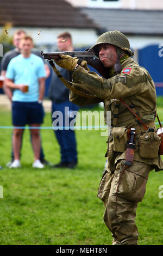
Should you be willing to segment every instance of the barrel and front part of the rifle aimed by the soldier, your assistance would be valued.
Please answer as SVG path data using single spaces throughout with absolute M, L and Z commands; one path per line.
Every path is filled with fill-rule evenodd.
M 78 51 L 70 51 L 70 52 L 43 52 L 41 51 L 41 56 L 43 56 L 44 59 L 60 59 L 59 54 L 64 55 L 70 55 L 72 57 L 76 58 L 94 58 L 95 52 L 88 51 L 88 52 L 78 52 Z

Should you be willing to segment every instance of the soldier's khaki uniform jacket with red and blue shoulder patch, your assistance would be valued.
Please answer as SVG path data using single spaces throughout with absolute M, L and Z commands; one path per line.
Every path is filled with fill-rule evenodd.
M 95 72 L 89 72 L 78 66 L 73 72 L 73 81 L 78 83 L 78 90 L 89 91 L 95 98 L 86 98 L 70 92 L 70 101 L 79 106 L 97 102 L 104 102 L 105 117 L 106 111 L 111 111 L 111 126 L 113 126 L 114 109 L 117 99 L 123 99 L 129 106 L 134 106 L 134 111 L 147 126 L 155 127 L 156 114 L 156 92 L 154 82 L 148 71 L 139 66 L 133 58 L 124 60 L 120 74 L 113 73 L 112 77 L 106 80 Z M 134 115 L 120 102 L 117 115 L 117 127 L 140 127 Z M 140 130 L 140 129 L 139 129 Z M 136 135 L 136 149 L 134 160 L 146 164 L 152 164 L 156 171 L 163 169 L 163 162 L 158 155 L 154 158 L 140 156 L 140 136 Z M 126 150 L 118 152 L 114 150 L 112 136 L 108 138 L 108 171 L 115 170 L 118 160 L 125 159 Z M 153 149 L 154 150 L 154 149 Z

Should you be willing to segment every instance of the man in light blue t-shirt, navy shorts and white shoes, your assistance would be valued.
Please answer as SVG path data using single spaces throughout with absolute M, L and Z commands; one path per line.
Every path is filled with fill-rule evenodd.
M 15 127 L 12 138 L 14 162 L 10 168 L 20 167 L 20 148 L 23 129 L 17 126 L 40 127 L 43 123 L 42 99 L 45 90 L 46 72 L 43 60 L 31 53 L 33 39 L 25 35 L 20 41 L 21 54 L 13 58 L 7 69 L 6 85 L 14 89 L 12 96 L 12 123 Z M 26 86 L 28 85 L 28 92 Z M 43 168 L 40 162 L 40 129 L 31 129 L 34 150 L 33 167 Z

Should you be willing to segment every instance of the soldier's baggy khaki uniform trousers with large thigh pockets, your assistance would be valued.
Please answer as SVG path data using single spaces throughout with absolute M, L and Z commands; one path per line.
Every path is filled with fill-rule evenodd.
M 137 245 L 137 203 L 143 199 L 148 174 L 153 166 L 134 161 L 122 174 L 123 168 L 124 160 L 121 160 L 114 172 L 105 171 L 99 184 L 98 197 L 105 205 L 103 218 L 114 238 L 112 245 Z M 122 179 L 118 186 L 121 174 Z

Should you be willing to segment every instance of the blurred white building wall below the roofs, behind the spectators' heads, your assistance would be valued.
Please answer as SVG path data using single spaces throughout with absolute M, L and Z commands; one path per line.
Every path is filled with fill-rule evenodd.
M 23 27 L 22 27 L 23 28 Z M 0 33 L 2 31 L 2 27 L 0 27 Z M 9 30 L 9 35 L 12 36 L 14 32 L 18 28 L 11 28 Z M 96 43 L 98 39 L 98 35 L 95 30 L 93 29 L 67 29 L 67 28 L 23 28 L 27 34 L 31 35 L 34 43 L 36 45 L 54 45 L 57 42 L 57 36 L 61 32 L 67 31 L 70 32 L 72 35 L 73 44 L 76 47 L 83 47 L 83 46 L 92 46 Z M 38 35 L 38 32 L 40 34 Z M 128 35 L 127 35 L 128 36 Z M 160 36 L 150 36 L 150 35 L 129 35 L 128 39 L 130 41 L 131 48 L 134 49 L 141 49 L 148 45 L 156 45 L 156 44 L 163 44 L 163 35 Z M 3 42 L 0 42 L 3 44 Z

